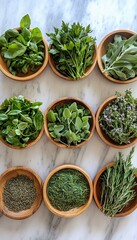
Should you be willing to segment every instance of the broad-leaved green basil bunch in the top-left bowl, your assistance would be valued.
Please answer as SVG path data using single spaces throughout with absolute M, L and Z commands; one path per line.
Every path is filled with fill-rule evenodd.
M 42 33 L 38 27 L 30 30 L 31 20 L 25 15 L 20 29 L 9 29 L 0 36 L 0 52 L 13 75 L 35 72 L 44 60 Z

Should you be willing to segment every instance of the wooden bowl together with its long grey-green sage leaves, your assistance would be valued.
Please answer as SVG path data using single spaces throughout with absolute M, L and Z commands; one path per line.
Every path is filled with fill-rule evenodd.
M 98 47 L 101 73 L 114 83 L 126 84 L 137 80 L 137 34 L 116 30 L 106 35 Z

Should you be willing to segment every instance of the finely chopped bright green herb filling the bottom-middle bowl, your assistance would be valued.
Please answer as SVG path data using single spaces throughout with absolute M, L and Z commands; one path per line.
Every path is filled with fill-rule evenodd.
M 68 211 L 84 205 L 89 198 L 89 184 L 85 176 L 74 169 L 64 169 L 49 180 L 47 195 L 53 207 Z

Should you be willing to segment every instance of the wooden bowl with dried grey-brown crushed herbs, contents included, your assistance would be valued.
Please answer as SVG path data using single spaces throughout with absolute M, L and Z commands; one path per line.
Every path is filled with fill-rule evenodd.
M 0 210 L 12 219 L 25 219 L 41 205 L 43 183 L 32 169 L 15 166 L 0 176 Z

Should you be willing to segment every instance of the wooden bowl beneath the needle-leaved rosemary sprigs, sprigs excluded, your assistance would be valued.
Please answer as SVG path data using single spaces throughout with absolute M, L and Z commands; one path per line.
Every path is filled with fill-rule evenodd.
M 110 162 L 107 165 L 105 165 L 103 168 L 101 168 L 97 175 L 94 178 L 94 200 L 97 205 L 97 207 L 101 210 L 101 204 L 100 204 L 100 199 L 101 199 L 101 180 L 100 177 L 103 172 L 106 171 L 107 167 L 113 167 L 114 162 Z M 136 176 L 136 182 L 137 182 L 137 174 Z M 137 186 L 135 186 L 135 191 L 137 194 Z M 115 215 L 115 217 L 124 217 L 132 213 L 135 209 L 137 208 L 137 195 L 135 199 L 131 200 L 126 207 L 123 208 L 123 210 Z

